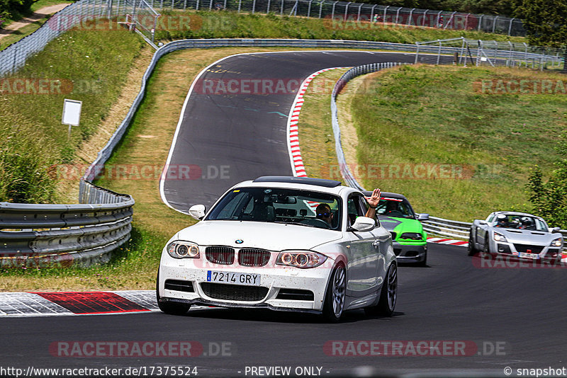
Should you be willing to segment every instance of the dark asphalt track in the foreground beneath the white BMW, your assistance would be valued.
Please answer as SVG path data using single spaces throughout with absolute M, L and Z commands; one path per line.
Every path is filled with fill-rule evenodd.
M 567 270 L 481 268 L 478 260 L 466 256 L 466 248 L 430 244 L 428 268 L 400 267 L 398 304 L 391 318 L 355 310 L 342 323 L 330 324 L 311 314 L 198 309 L 184 316 L 152 312 L 3 319 L 1 360 L 23 368 L 189 365 L 198 367 L 198 377 L 250 377 L 247 366 L 321 367 L 322 376 L 373 371 L 433 377 L 561 367 Z M 341 356 L 325 349 L 332 340 L 456 340 L 472 342 L 478 350 L 466 348 L 465 356 Z M 53 347 L 50 353 L 50 345 L 61 341 L 196 341 L 203 354 L 65 357 Z M 223 343 L 225 355 L 217 355 Z

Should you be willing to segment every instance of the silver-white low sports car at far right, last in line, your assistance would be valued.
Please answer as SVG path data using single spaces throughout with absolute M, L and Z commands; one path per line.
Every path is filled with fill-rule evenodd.
M 481 251 L 493 256 L 561 263 L 563 235 L 541 217 L 524 212 L 493 212 L 476 219 L 468 238 L 468 255 Z

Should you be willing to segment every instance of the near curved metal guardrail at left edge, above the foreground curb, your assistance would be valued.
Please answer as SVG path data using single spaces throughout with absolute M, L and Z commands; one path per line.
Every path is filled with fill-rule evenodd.
M 0 268 L 86 266 L 108 260 L 130 238 L 134 200 L 85 181 L 80 193 L 87 203 L 0 202 Z

